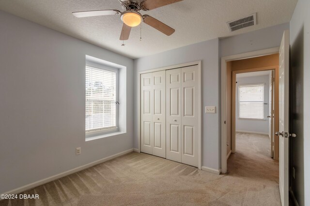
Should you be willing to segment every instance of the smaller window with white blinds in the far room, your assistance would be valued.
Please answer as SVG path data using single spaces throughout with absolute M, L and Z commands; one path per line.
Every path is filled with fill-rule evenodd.
M 264 84 L 239 85 L 239 118 L 264 119 Z

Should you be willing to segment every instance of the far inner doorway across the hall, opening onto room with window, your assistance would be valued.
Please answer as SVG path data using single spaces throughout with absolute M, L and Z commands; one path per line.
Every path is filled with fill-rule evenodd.
M 233 153 L 237 150 L 246 156 L 257 153 L 264 158 L 273 158 L 274 74 L 275 70 L 247 73 L 233 71 L 234 133 L 232 138 L 228 139 L 228 145 L 230 141 L 233 142 Z M 248 153 L 245 152 L 247 148 L 251 149 Z M 232 151 L 232 147 L 228 146 L 229 150 Z

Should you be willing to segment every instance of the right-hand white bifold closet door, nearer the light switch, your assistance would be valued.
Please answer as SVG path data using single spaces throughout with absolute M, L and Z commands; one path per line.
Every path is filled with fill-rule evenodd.
M 199 166 L 198 65 L 166 71 L 167 159 Z

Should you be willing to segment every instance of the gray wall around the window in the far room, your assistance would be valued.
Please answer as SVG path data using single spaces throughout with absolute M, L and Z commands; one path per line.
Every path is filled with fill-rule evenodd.
M 269 75 L 264 76 L 251 76 L 251 77 L 238 77 L 236 81 L 236 131 L 246 132 L 260 132 L 269 134 L 269 119 L 266 118 L 269 115 Z M 254 119 L 240 119 L 239 117 L 239 102 L 238 102 L 238 87 L 244 84 L 256 84 L 264 83 L 264 120 Z

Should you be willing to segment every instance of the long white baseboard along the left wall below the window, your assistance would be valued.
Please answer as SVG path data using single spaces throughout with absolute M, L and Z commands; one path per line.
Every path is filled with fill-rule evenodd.
M 20 192 L 27 191 L 27 190 L 30 190 L 30 189 L 32 189 L 32 188 L 38 187 L 38 186 L 40 186 L 40 185 L 43 185 L 43 184 L 45 184 L 45 183 L 47 183 L 47 182 L 51 182 L 51 181 L 53 181 L 53 180 L 55 180 L 55 179 L 59 179 L 59 178 L 61 178 L 61 177 L 65 177 L 65 176 L 67 176 L 67 175 L 71 175 L 71 174 L 73 174 L 73 173 L 76 173 L 76 172 L 78 172 L 78 171 L 87 169 L 87 168 L 89 168 L 89 167 L 92 167 L 92 166 L 94 166 L 94 165 L 97 165 L 97 164 L 100 164 L 100 163 L 103 163 L 103 162 L 107 162 L 107 161 L 109 161 L 109 160 L 112 160 L 112 159 L 114 159 L 114 158 L 117 158 L 117 157 L 119 157 L 119 156 L 122 156 L 122 155 L 127 154 L 127 153 L 132 152 L 132 151 L 134 151 L 133 148 L 132 148 L 132 149 L 128 149 L 128 150 L 123 151 L 123 152 L 120 152 L 120 153 L 117 153 L 117 154 L 115 154 L 115 155 L 111 155 L 111 156 L 106 157 L 106 158 L 103 158 L 103 159 L 101 159 L 101 160 L 97 160 L 97 161 L 94 161 L 94 162 L 91 162 L 91 163 L 88 163 L 88 164 L 84 164 L 84 165 L 82 165 L 82 166 L 76 167 L 76 168 L 71 169 L 71 170 L 68 170 L 68 171 L 66 171 L 66 172 L 62 172 L 62 173 L 60 173 L 60 174 L 58 174 L 58 175 L 54 175 L 54 176 L 52 176 L 52 177 L 47 177 L 47 178 L 45 178 L 45 179 L 41 179 L 41 180 L 32 182 L 32 183 L 30 183 L 30 184 L 28 184 L 28 185 L 21 186 L 21 187 L 19 187 L 19 188 L 13 189 L 13 190 L 11 190 L 11 191 L 3 192 L 3 194 L 18 194 L 18 193 L 20 193 Z

